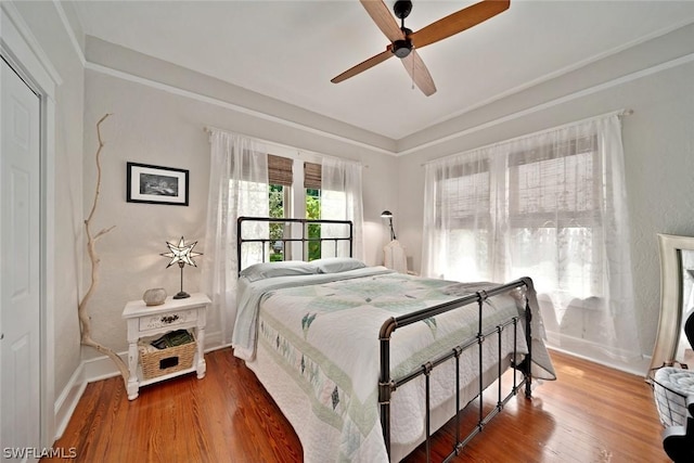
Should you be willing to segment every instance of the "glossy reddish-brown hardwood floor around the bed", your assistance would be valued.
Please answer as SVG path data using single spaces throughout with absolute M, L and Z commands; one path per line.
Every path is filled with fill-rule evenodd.
M 120 377 L 88 385 L 53 449 L 74 449 L 76 459 L 65 461 L 75 462 L 300 461 L 296 434 L 253 372 L 230 349 L 205 358 L 204 380 L 147 386 L 133 401 Z M 532 400 L 513 398 L 455 462 L 669 461 L 643 378 L 561 352 L 552 358 L 558 381 L 542 383 Z M 448 453 L 451 428 L 437 434 L 433 461 Z M 423 455 L 420 448 L 407 461 Z

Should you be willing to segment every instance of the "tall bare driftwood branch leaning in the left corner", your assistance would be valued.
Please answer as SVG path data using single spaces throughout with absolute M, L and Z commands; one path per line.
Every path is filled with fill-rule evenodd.
M 91 319 L 87 313 L 87 305 L 93 295 L 97 285 L 99 284 L 99 267 L 100 259 L 97 255 L 97 241 L 108 233 L 114 229 L 115 226 L 110 227 L 107 229 L 103 229 L 97 234 L 92 235 L 91 232 L 91 221 L 94 216 L 94 211 L 97 210 L 97 205 L 99 204 L 99 195 L 101 194 L 101 150 L 104 147 L 104 142 L 101 138 L 101 124 L 106 120 L 106 118 L 111 116 L 111 114 L 105 114 L 99 121 L 97 123 L 97 136 L 99 138 L 99 149 L 97 150 L 97 191 L 94 192 L 94 201 L 91 205 L 91 210 L 89 211 L 89 216 L 85 220 L 85 230 L 87 232 L 87 252 L 89 254 L 89 260 L 91 261 L 91 278 L 89 281 L 89 288 L 85 296 L 79 301 L 79 306 L 77 307 L 77 313 L 79 316 L 79 329 L 81 333 L 81 344 L 82 346 L 93 347 L 101 353 L 106 355 L 111 360 L 114 361 L 118 370 L 120 371 L 120 375 L 123 380 L 126 382 L 126 386 L 128 384 L 128 378 L 130 376 L 128 366 L 123 361 L 123 359 L 116 353 L 113 349 L 105 347 L 99 343 L 97 343 L 91 337 Z

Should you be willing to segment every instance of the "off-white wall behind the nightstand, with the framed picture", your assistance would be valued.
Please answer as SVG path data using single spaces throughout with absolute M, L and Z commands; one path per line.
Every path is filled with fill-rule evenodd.
M 88 57 L 90 49 L 88 47 Z M 142 55 L 133 56 L 145 60 Z M 99 60 L 103 60 L 100 56 Z M 95 59 L 94 59 L 95 60 Z M 152 62 L 149 62 L 152 64 Z M 112 63 L 113 64 L 113 63 Z M 185 74 L 183 69 L 179 73 Z M 204 76 L 189 73 L 200 82 Z M 102 152 L 103 181 L 93 229 L 116 228 L 98 243 L 101 283 L 91 306 L 93 336 L 116 349 L 125 350 L 126 326 L 121 319 L 128 300 L 142 297 L 150 287 L 178 291 L 178 268 L 166 269 L 166 241 L 181 235 L 197 241 L 195 250 L 206 252 L 205 219 L 209 178 L 209 151 L 205 127 L 253 136 L 313 153 L 360 162 L 363 170 L 365 253 L 371 265 L 382 262 L 381 249 L 387 240 L 380 214 L 396 202 L 395 183 L 388 179 L 397 162 L 394 156 L 373 153 L 349 142 L 309 133 L 300 128 L 246 114 L 226 103 L 221 94 L 202 98 L 180 87 L 155 82 L 162 74 L 153 69 L 146 78 L 114 73 L 104 66 L 89 66 L 85 86 L 85 214 L 95 188 L 93 153 L 98 146 L 95 123 L 113 113 L 102 125 L 105 146 Z M 177 83 L 182 86 L 181 83 Z M 126 202 L 126 163 L 137 162 L 190 170 L 190 206 L 166 206 Z M 197 258 L 198 261 L 205 256 Z M 200 268 L 184 269 L 184 288 L 200 288 Z M 214 314 L 211 317 L 215 318 Z M 218 339 L 218 329 L 208 327 L 209 344 Z M 92 351 L 85 351 L 94 357 Z

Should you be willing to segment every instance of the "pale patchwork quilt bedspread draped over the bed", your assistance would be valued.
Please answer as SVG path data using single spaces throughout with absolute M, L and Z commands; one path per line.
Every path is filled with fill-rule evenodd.
M 277 279 L 274 284 L 260 283 L 259 292 L 254 291 L 254 283 L 241 296 L 253 304 L 240 308 L 240 313 L 243 312 L 240 319 L 245 319 L 250 326 L 241 330 L 248 336 L 244 338 L 245 345 L 234 346 L 239 356 L 250 360 L 255 351 L 253 343 L 261 345 L 310 402 L 306 413 L 312 414 L 311 420 L 297 423 L 303 420 L 291 419 L 299 438 L 311 433 L 310 427 L 322 436 L 316 448 L 304 443 L 307 462 L 387 461 L 377 404 L 381 325 L 390 317 L 461 296 L 461 285 L 450 281 L 413 278 L 383 269 L 345 273 L 351 272 L 337 278 L 294 276 L 291 287 L 286 287 L 286 279 Z M 518 314 L 524 299 L 517 296 L 487 299 L 483 309 L 484 325 L 493 326 Z M 393 377 L 416 369 L 437 353 L 450 351 L 461 339 L 475 336 L 478 310 L 478 305 L 472 304 L 397 330 L 391 337 Z M 525 353 L 527 347 L 520 324 L 518 330 L 518 353 Z M 513 352 L 512 331 L 505 330 L 507 333 L 502 336 L 502 357 Z M 543 349 L 543 345 L 540 347 Z M 537 349 L 534 344 L 534 355 Z M 542 352 L 538 353 L 542 358 Z M 485 343 L 485 364 L 493 364 L 497 358 L 497 342 Z M 549 361 L 549 356 L 547 359 Z M 553 374 L 551 364 L 544 368 Z M 461 382 L 471 384 L 477 375 L 475 348 L 463 357 Z M 453 394 L 454 374 L 432 377 L 432 406 L 436 407 Z M 394 410 L 397 411 L 391 429 L 394 440 L 409 442 L 420 438 L 424 426 L 422 383 L 412 382 L 398 388 L 394 393 Z

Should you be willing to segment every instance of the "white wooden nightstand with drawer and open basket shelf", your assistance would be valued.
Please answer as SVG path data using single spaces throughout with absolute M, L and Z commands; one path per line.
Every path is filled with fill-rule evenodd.
M 168 380 L 181 374 L 197 372 L 197 378 L 205 377 L 205 321 L 209 297 L 202 293 L 191 294 L 185 299 L 167 297 L 160 306 L 146 306 L 143 300 L 126 304 L 123 318 L 128 323 L 128 399 L 138 398 L 141 386 Z M 176 330 L 194 330 L 197 351 L 193 365 L 189 369 L 144 380 L 140 365 L 138 342 L 142 337 L 165 334 Z M 190 359 L 190 357 L 189 357 Z

